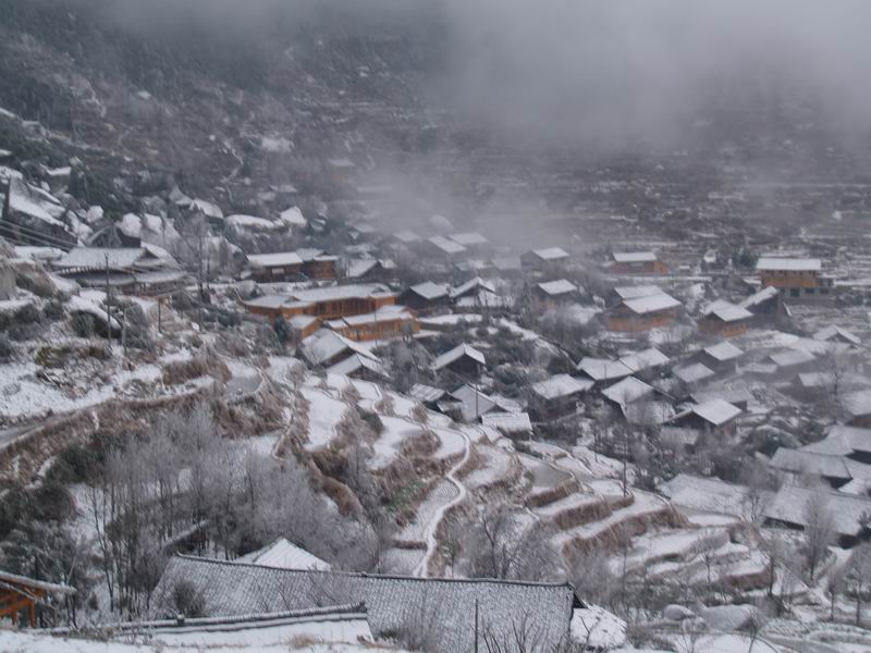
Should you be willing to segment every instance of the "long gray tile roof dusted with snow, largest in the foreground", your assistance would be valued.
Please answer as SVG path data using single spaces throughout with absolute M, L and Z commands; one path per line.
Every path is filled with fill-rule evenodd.
M 439 653 L 475 650 L 476 602 L 479 624 L 500 640 L 511 638 L 512 628 L 525 620 L 548 650 L 568 638 L 576 603 L 568 583 L 278 569 L 180 555 L 170 559 L 155 590 L 154 616 L 171 613 L 173 588 L 182 581 L 203 593 L 206 615 L 212 617 L 361 602 L 376 637 L 389 637 L 404 625 L 427 628 Z

